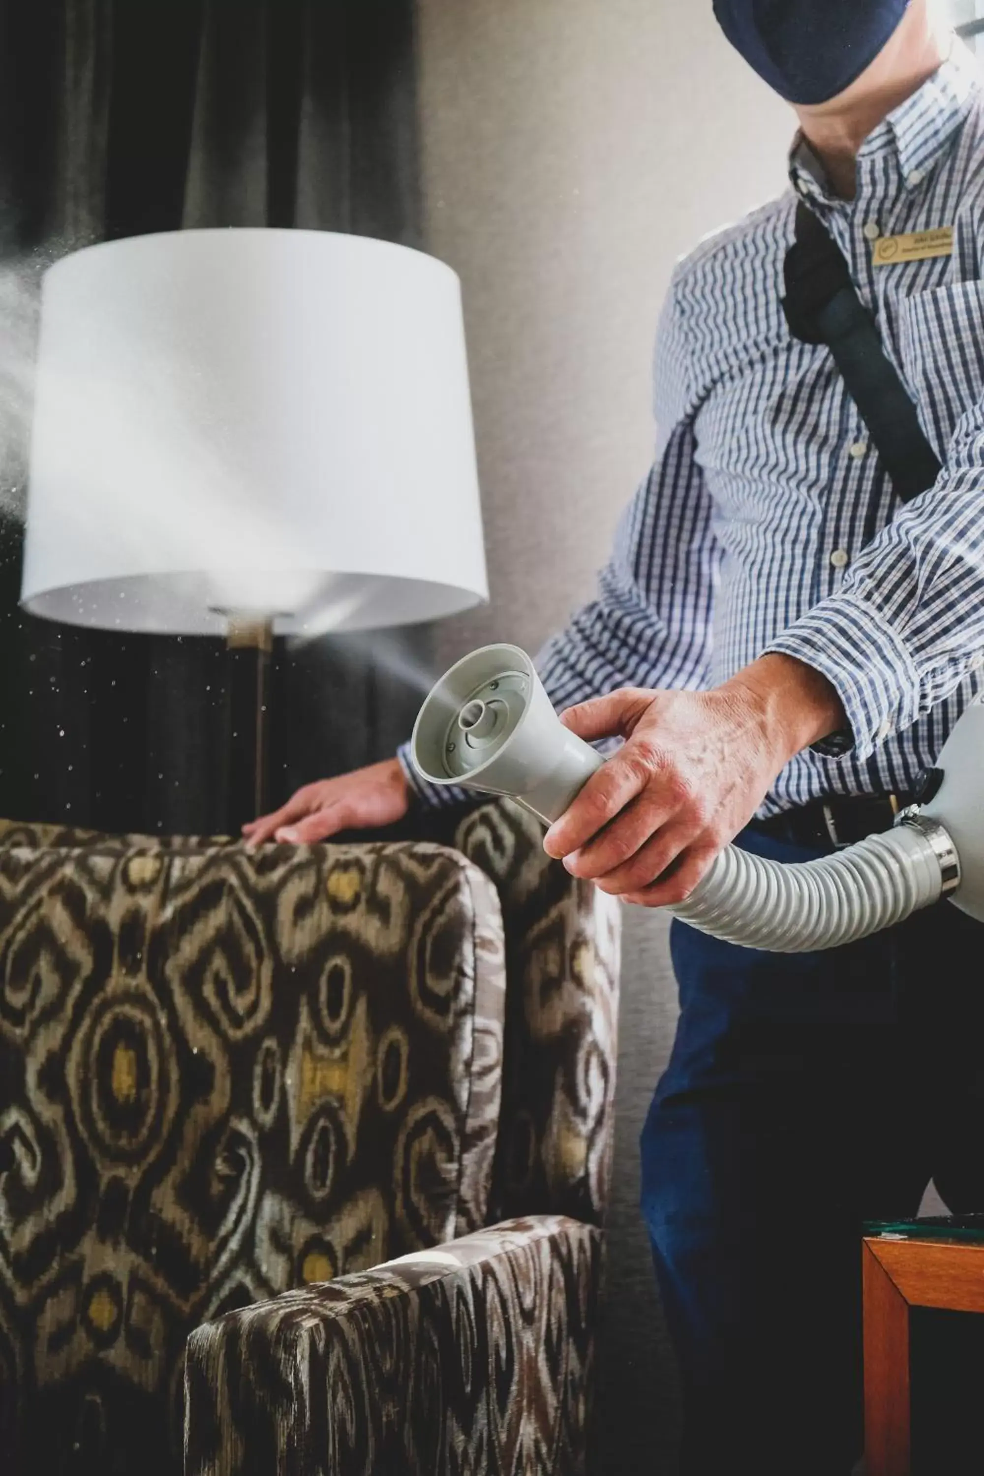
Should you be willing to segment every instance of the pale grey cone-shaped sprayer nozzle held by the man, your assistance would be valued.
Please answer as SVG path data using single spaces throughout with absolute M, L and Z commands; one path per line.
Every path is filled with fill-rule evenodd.
M 559 819 L 605 762 L 558 719 L 525 651 L 474 651 L 437 683 L 416 720 L 413 766 L 428 784 L 507 794 Z

